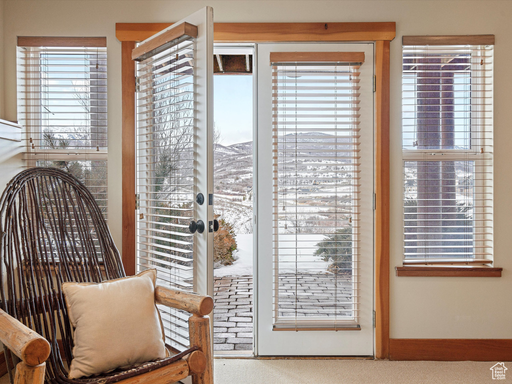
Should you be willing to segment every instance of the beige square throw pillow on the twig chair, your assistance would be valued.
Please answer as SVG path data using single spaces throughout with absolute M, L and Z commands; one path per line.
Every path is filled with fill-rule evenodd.
M 96 283 L 63 283 L 74 328 L 69 378 L 168 356 L 155 304 L 155 269 Z

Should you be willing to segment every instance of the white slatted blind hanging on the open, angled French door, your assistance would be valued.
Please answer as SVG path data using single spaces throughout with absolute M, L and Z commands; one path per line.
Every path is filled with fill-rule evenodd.
M 194 52 L 183 36 L 137 65 L 137 268 L 185 290 L 194 288 Z M 159 308 L 167 344 L 188 348 L 190 314 Z

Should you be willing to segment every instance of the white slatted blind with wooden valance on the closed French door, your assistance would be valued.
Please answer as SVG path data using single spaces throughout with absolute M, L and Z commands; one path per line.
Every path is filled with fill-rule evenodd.
M 274 328 L 357 328 L 364 53 L 271 53 L 270 61 Z

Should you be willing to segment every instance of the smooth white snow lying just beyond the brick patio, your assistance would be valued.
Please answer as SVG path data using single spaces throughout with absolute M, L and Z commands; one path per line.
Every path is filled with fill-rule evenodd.
M 284 237 L 295 238 L 294 235 L 282 235 Z M 300 254 L 286 255 L 285 250 L 281 250 L 282 255 L 279 258 L 280 272 L 284 273 L 327 273 L 327 267 L 330 263 L 323 261 L 317 256 L 313 256 L 316 249 L 315 245 L 323 239 L 321 235 L 309 235 L 309 241 L 304 241 Z M 214 276 L 248 276 L 252 275 L 252 234 L 237 234 L 236 257 L 233 264 L 214 269 Z M 291 252 L 288 251 L 288 252 Z

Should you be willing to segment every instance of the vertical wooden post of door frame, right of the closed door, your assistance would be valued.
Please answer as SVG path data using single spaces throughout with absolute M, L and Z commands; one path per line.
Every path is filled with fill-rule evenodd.
M 389 358 L 390 42 L 375 42 L 375 357 Z

